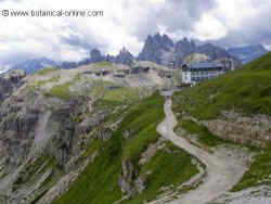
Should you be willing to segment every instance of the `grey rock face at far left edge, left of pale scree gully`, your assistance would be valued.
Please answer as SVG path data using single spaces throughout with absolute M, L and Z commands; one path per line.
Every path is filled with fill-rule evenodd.
M 10 103 L 3 104 L 0 109 L 0 141 L 10 166 L 20 165 L 29 153 L 39 113 L 35 110 L 22 109 Z

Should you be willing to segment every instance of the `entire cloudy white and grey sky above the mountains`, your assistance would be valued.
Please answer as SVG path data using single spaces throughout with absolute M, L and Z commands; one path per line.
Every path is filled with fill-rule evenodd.
M 147 35 L 166 33 L 224 47 L 271 46 L 270 0 L 0 0 L 1 10 L 102 10 L 99 17 L 0 15 L 0 64 L 47 56 L 76 61 L 88 49 L 138 54 Z

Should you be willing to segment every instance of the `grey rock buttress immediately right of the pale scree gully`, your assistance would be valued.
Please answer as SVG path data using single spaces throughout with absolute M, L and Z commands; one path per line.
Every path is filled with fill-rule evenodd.
M 80 153 L 80 136 L 88 133 L 94 127 L 94 124 L 83 127 L 82 122 L 78 119 L 82 113 L 88 113 L 87 102 L 88 99 L 85 97 L 70 100 L 66 105 L 54 110 L 49 118 L 47 131 L 53 135 L 46 151 L 53 155 L 63 168 L 73 156 Z

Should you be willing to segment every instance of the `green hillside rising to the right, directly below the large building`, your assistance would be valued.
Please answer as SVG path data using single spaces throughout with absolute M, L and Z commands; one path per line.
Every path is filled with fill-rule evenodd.
M 175 97 L 180 109 L 199 119 L 216 118 L 222 110 L 271 115 L 271 53 Z

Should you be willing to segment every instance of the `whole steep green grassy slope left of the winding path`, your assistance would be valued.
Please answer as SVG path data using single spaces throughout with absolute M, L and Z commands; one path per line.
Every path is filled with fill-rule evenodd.
M 119 200 L 121 192 L 117 181 L 121 173 L 121 160 L 129 160 L 137 164 L 139 155 L 150 143 L 158 139 L 156 125 L 164 118 L 163 104 L 164 99 L 154 94 L 132 106 L 119 129 L 108 141 L 100 142 L 100 146 L 94 142 L 99 156 L 79 176 L 69 191 L 54 204 L 107 204 Z M 122 132 L 128 129 L 132 130 L 133 135 L 130 139 L 125 140 Z M 150 163 L 138 167 L 140 175 L 149 170 L 152 170 L 153 175 L 147 180 L 146 191 L 127 203 L 143 203 L 144 200 L 153 200 L 162 187 L 181 183 L 197 173 L 196 167 L 191 164 L 189 154 L 171 144 L 167 145 L 173 150 L 173 153 L 159 151 Z M 90 144 L 90 149 L 92 149 L 92 144 Z

